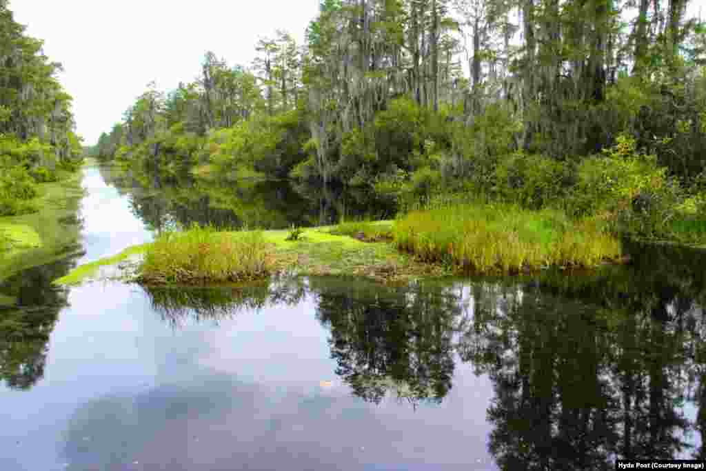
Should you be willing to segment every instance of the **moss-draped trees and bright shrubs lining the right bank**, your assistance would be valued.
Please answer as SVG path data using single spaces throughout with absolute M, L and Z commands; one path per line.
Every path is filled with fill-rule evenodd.
M 569 201 L 664 232 L 665 212 L 700 212 L 706 182 L 706 35 L 687 6 L 325 0 L 302 45 L 278 32 L 249 67 L 209 52 L 196 81 L 150 87 L 97 154 L 397 201 Z

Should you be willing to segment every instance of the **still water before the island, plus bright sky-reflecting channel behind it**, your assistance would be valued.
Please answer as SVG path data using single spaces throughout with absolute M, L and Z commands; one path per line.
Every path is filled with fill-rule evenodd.
M 85 172 L 84 258 L 149 240 L 134 193 Z M 702 458 L 706 256 L 630 251 L 593 273 L 404 287 L 68 290 L 50 282 L 76 260 L 28 270 L 0 288 L 18 299 L 0 311 L 0 470 Z

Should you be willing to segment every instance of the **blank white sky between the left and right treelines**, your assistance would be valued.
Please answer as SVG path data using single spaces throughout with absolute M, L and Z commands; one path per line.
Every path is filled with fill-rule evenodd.
M 249 65 L 258 37 L 288 30 L 301 43 L 318 0 L 11 0 L 27 33 L 64 64 L 78 133 L 92 145 L 155 80 L 192 81 L 207 50 Z

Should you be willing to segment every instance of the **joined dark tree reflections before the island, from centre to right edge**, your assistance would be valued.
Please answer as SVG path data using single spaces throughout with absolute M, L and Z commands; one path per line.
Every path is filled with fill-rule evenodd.
M 572 277 L 279 289 L 294 304 L 311 294 L 357 397 L 442 403 L 470 368 L 493 385 L 484 407 L 501 469 L 609 470 L 618 457 L 704 457 L 704 261 L 635 246 L 633 266 Z M 272 295 L 259 293 L 249 308 Z

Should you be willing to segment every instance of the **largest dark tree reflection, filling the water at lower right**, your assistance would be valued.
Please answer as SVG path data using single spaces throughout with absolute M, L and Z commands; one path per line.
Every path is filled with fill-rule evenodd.
M 501 468 L 703 456 L 691 432 L 705 423 L 704 256 L 633 253 L 631 268 L 474 285 L 459 352 L 493 381 L 489 449 Z

